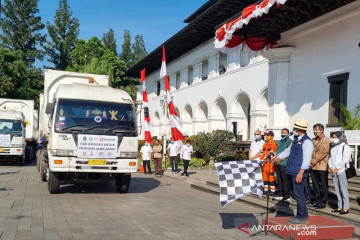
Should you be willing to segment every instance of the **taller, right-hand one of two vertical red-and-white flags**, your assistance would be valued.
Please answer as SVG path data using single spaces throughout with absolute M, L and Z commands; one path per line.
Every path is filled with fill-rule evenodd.
M 179 128 L 181 127 L 181 122 L 175 111 L 174 103 L 173 103 L 171 93 L 170 93 L 169 79 L 166 74 L 166 57 L 165 57 L 164 45 L 163 45 L 163 58 L 162 58 L 161 69 L 160 69 L 160 78 L 164 78 L 164 81 L 165 81 L 167 104 L 168 104 L 169 114 L 170 114 L 171 137 L 174 139 L 174 141 L 185 140 L 185 137 L 179 131 Z

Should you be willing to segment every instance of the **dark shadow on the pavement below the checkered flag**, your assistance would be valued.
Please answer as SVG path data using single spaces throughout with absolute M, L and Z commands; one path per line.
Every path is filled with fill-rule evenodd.
M 257 226 L 259 221 L 252 213 L 220 213 L 223 229 L 238 228 L 244 224 L 248 224 L 249 228 Z

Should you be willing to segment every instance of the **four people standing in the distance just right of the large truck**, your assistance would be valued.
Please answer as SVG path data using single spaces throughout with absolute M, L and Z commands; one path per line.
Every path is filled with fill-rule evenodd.
M 180 154 L 180 160 L 184 163 L 184 171 L 181 173 L 181 176 L 189 177 L 188 167 L 191 160 L 191 155 L 193 153 L 193 147 L 191 146 L 191 141 L 187 140 L 186 144 L 179 143 L 170 139 L 168 147 L 166 149 L 167 155 L 170 157 L 170 165 L 172 173 L 179 173 L 179 164 L 178 164 L 178 155 Z M 143 161 L 144 173 L 152 174 L 150 160 L 154 160 L 155 173 L 154 175 L 162 175 L 162 159 L 163 159 L 163 147 L 160 145 L 159 140 L 155 140 L 153 147 L 150 146 L 150 143 L 145 141 L 145 145 L 141 147 L 140 150 L 141 159 Z

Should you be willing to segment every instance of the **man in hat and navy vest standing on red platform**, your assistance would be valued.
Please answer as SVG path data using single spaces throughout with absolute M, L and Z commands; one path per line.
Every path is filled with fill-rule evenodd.
M 287 221 L 288 224 L 306 224 L 309 220 L 306 206 L 305 182 L 308 177 L 308 170 L 311 155 L 314 150 L 311 138 L 306 134 L 308 121 L 297 119 L 293 125 L 294 140 L 290 147 L 273 157 L 273 161 L 288 158 L 285 173 L 290 176 L 293 196 L 297 203 L 297 213 L 295 218 Z

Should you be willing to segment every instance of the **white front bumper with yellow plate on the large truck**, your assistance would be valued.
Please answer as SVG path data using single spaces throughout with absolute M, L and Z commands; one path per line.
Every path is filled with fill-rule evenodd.
M 134 173 L 138 168 L 137 159 L 80 159 L 49 154 L 48 160 L 53 172 Z

